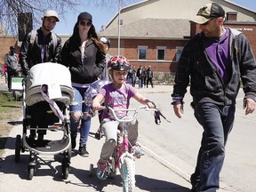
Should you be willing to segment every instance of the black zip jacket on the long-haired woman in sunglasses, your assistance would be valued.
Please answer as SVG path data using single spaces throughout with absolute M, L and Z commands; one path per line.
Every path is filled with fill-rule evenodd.
M 105 53 L 89 39 L 84 49 L 85 59 L 82 62 L 80 44 L 70 37 L 61 51 L 61 64 L 69 68 L 71 81 L 76 84 L 92 84 L 98 80 L 105 68 Z

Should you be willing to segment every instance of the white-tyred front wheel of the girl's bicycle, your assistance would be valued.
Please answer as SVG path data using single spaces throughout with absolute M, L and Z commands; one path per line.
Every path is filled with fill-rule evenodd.
M 132 192 L 135 188 L 135 160 L 124 157 L 124 164 L 121 165 L 123 178 L 123 191 Z

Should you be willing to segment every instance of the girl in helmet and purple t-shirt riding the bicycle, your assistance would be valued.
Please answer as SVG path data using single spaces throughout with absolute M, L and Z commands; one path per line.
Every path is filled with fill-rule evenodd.
M 148 100 L 145 96 L 141 95 L 132 87 L 131 84 L 126 84 L 125 80 L 130 69 L 130 63 L 124 56 L 114 56 L 108 60 L 109 74 L 113 79 L 111 84 L 104 85 L 95 99 L 92 101 L 92 108 L 94 110 L 100 110 L 100 103 L 104 101 L 104 105 L 108 105 L 114 109 L 128 109 L 130 99 L 134 98 L 143 105 L 148 105 L 148 108 L 156 108 L 155 104 Z M 116 116 L 125 118 L 127 111 L 118 111 Z M 98 162 L 97 177 L 100 180 L 106 180 L 106 163 L 109 156 L 114 152 L 116 146 L 116 132 L 118 128 L 118 122 L 114 116 L 109 114 L 107 110 L 102 112 L 102 124 L 101 129 L 106 137 L 106 141 L 103 144 L 100 152 L 100 160 Z M 138 121 L 135 119 L 128 124 L 128 140 L 132 144 L 136 156 L 143 155 L 143 151 L 137 144 L 138 138 Z

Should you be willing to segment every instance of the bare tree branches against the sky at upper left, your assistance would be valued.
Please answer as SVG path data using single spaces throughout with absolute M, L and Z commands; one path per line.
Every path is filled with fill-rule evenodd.
M 136 0 L 0 0 L 0 36 L 18 35 L 18 18 L 22 13 L 29 13 L 33 20 L 33 28 L 37 28 L 41 25 L 40 19 L 44 12 L 49 9 L 58 12 L 60 18 L 65 20 L 65 12 L 76 12 L 77 6 L 94 5 L 114 8 L 113 3 L 116 4 L 119 1 L 121 6 L 124 6 Z M 26 25 L 23 27 L 27 28 Z

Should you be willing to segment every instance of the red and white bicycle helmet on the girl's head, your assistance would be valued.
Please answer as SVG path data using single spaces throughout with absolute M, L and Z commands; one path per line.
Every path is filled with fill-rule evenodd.
M 108 68 L 128 71 L 130 69 L 130 62 L 124 56 L 116 55 L 113 56 L 110 60 L 108 60 Z

